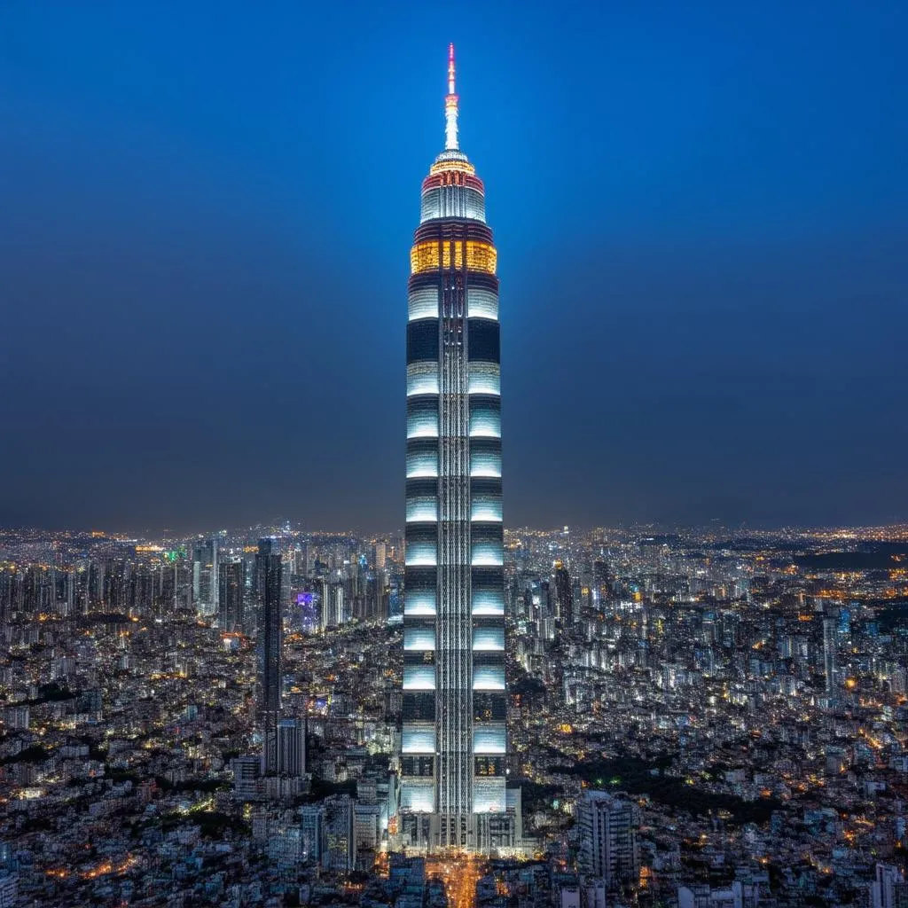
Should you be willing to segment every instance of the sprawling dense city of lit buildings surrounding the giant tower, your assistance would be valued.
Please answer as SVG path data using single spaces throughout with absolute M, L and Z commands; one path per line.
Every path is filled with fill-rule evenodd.
M 198 538 L 0 531 L 7 903 L 908 897 L 908 528 L 507 531 L 521 853 L 472 858 L 400 845 L 405 531 L 213 535 L 243 631 L 193 583 Z

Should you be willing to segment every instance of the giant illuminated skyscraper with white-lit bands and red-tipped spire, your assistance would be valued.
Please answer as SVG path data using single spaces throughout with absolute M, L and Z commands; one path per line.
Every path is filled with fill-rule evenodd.
M 496 250 L 457 120 L 451 45 L 445 150 L 410 251 L 400 829 L 475 851 L 511 844 L 513 824 Z

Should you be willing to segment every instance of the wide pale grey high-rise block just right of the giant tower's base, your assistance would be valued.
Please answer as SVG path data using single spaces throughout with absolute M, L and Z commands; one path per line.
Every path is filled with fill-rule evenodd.
M 607 792 L 584 792 L 577 804 L 580 870 L 608 888 L 637 880 L 637 807 Z

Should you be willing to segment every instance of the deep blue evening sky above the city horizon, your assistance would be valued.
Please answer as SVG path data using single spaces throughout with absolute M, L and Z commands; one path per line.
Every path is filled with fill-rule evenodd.
M 5 0 L 0 524 L 402 526 L 449 41 L 508 525 L 908 518 L 905 34 L 903 0 Z

